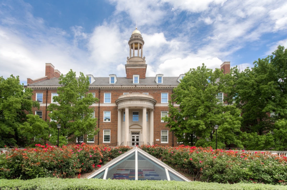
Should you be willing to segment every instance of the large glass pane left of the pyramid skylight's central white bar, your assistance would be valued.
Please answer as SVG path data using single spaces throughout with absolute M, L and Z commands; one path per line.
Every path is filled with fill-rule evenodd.
M 135 180 L 135 152 L 110 166 L 106 179 Z

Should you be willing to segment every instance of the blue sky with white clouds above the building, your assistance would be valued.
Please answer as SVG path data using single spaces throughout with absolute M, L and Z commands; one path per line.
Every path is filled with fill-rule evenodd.
M 285 0 L 1 0 L 0 75 L 26 84 L 52 63 L 63 74 L 125 77 L 136 20 L 147 77 L 178 77 L 202 63 L 252 67 L 287 46 Z

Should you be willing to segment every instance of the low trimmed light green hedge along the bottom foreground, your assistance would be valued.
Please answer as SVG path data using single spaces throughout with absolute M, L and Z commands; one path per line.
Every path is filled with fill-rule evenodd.
M 205 183 L 205 182 L 181 182 L 181 181 L 129 181 L 129 180 L 103 180 L 103 179 L 57 179 L 57 178 L 36 178 L 30 180 L 20 179 L 1 179 L 1 190 L 91 190 L 91 189 L 113 189 L 113 190 L 140 190 L 140 189 L 156 189 L 156 190 L 174 190 L 174 189 L 194 189 L 194 190 L 247 190 L 247 189 L 269 189 L 269 190 L 286 190 L 286 186 L 282 185 L 266 185 L 254 183 Z

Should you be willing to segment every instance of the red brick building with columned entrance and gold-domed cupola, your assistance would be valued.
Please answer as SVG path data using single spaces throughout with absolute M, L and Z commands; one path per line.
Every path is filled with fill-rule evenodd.
M 168 101 L 172 89 L 177 87 L 185 75 L 164 77 L 158 74 L 146 77 L 146 60 L 143 57 L 144 40 L 136 29 L 129 40 L 129 57 L 125 65 L 126 77 L 94 77 L 87 75 L 90 81 L 89 93 L 94 93 L 100 101 L 94 103 L 95 117 L 98 117 L 97 136 L 89 137 L 91 144 L 141 145 L 162 144 L 177 146 L 177 138 L 166 128 L 162 117 L 168 115 Z M 221 65 L 224 73 L 229 72 L 230 62 Z M 35 114 L 43 120 L 50 120 L 46 111 L 53 103 L 59 86 L 59 70 L 46 63 L 45 77 L 27 79 L 27 87 L 32 88 L 33 100 L 40 103 Z M 223 94 L 218 99 L 223 101 Z

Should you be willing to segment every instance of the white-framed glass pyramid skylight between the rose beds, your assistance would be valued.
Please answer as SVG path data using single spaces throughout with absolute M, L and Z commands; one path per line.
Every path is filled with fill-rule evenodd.
M 189 181 L 168 165 L 135 147 L 88 177 L 98 179 Z

